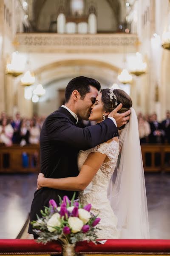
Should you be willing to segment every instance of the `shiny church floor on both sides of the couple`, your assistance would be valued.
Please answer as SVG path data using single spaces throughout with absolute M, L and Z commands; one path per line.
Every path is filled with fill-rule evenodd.
M 170 239 L 170 174 L 145 173 L 151 239 Z M 0 239 L 15 239 L 30 211 L 37 174 L 0 175 Z

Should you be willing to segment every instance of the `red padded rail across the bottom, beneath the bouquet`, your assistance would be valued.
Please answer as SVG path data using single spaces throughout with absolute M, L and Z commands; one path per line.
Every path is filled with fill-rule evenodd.
M 157 239 L 110 239 L 104 245 L 79 242 L 76 253 L 92 254 L 170 254 L 170 240 Z M 34 240 L 0 239 L 0 254 L 60 254 L 62 247 L 57 242 L 46 245 Z

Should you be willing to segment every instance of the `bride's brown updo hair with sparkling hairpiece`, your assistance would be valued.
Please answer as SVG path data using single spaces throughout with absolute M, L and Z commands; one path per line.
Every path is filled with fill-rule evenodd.
M 121 89 L 114 89 L 112 90 L 114 95 L 116 96 L 116 99 L 113 96 L 113 99 L 110 98 L 110 89 L 102 89 L 102 105 L 104 107 L 104 110 L 106 112 L 111 112 L 113 109 L 115 109 L 120 103 L 122 103 L 122 108 L 118 111 L 118 113 L 124 113 L 127 110 L 129 110 L 132 107 L 132 100 L 130 99 L 130 96 L 125 93 L 124 90 Z M 117 103 L 117 104 L 115 104 Z M 122 125 L 119 127 L 119 130 L 122 130 L 125 128 L 125 125 Z

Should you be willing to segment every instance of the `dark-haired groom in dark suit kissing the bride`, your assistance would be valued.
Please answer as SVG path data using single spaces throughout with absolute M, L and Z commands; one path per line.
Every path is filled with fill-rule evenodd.
M 40 133 L 40 172 L 48 178 L 75 177 L 78 175 L 77 154 L 80 150 L 94 148 L 113 137 L 119 136 L 117 126 L 129 120 L 130 111 L 119 114 L 120 104 L 108 119 L 86 128 L 77 127 L 79 120 L 88 120 L 101 86 L 98 81 L 79 76 L 72 79 L 65 89 L 65 105 L 51 113 Z M 101 117 L 102 118 L 102 117 Z M 117 126 L 116 126 L 117 125 Z M 74 191 L 64 191 L 43 187 L 34 193 L 30 219 L 37 220 L 40 210 L 49 206 L 50 199 L 59 203 L 58 195 L 71 198 Z M 32 225 L 28 233 L 34 234 Z M 34 238 L 37 238 L 34 234 Z

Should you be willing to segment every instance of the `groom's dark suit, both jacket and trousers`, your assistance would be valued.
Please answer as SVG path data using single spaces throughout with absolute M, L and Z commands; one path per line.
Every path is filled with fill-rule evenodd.
M 51 113 L 42 125 L 40 133 L 40 171 L 48 178 L 75 177 L 78 175 L 77 154 L 79 150 L 87 150 L 119 136 L 116 125 L 111 119 L 89 126 L 78 128 L 76 119 L 65 108 Z M 34 193 L 31 205 L 30 221 L 37 220 L 36 214 L 49 200 L 59 203 L 58 195 L 71 198 L 74 191 L 42 188 Z M 29 225 L 28 233 L 32 231 Z

